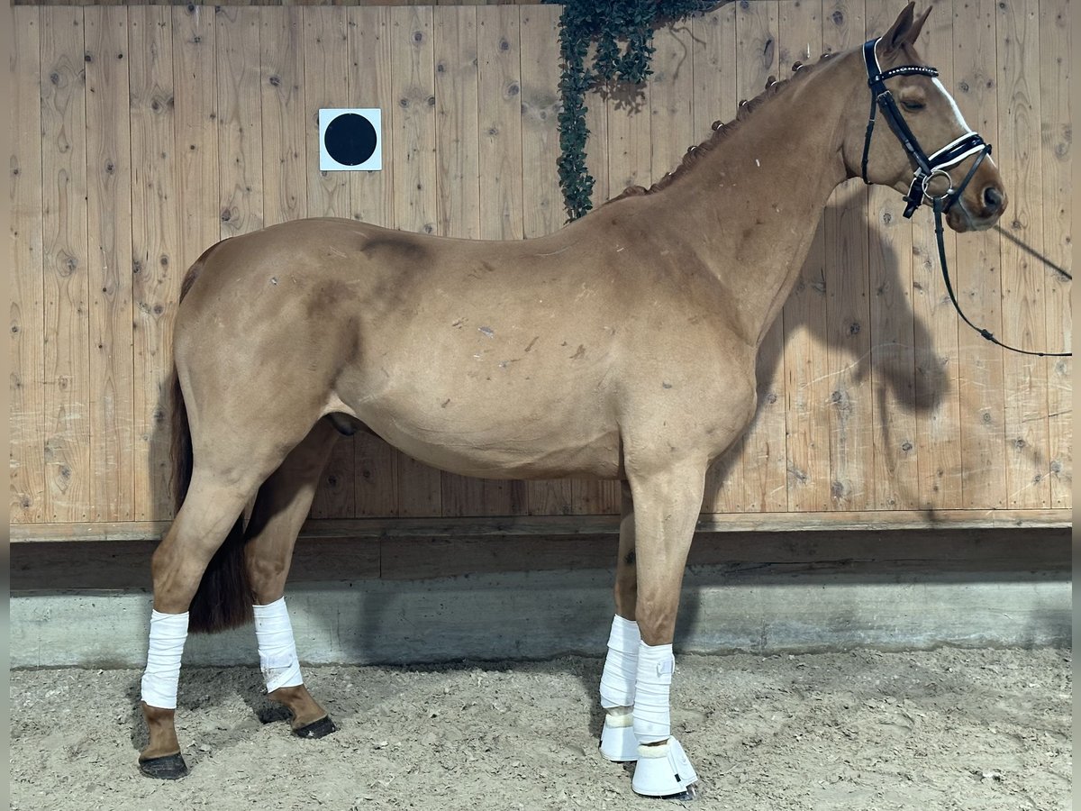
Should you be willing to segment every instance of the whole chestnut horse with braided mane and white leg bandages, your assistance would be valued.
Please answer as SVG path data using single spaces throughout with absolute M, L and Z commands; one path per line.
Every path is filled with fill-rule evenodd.
M 916 52 L 926 16 L 909 3 L 867 46 L 797 65 L 653 188 L 545 237 L 317 218 L 209 249 L 176 317 L 182 503 L 154 555 L 144 773 L 186 773 L 188 628 L 243 623 L 253 604 L 270 699 L 297 734 L 333 731 L 282 600 L 331 447 L 365 429 L 455 474 L 623 482 L 601 752 L 637 761 L 639 794 L 685 793 L 671 642 L 706 469 L 755 414 L 756 355 L 830 192 L 863 177 L 910 208 L 937 197 L 956 231 L 1005 209 L 989 147 Z

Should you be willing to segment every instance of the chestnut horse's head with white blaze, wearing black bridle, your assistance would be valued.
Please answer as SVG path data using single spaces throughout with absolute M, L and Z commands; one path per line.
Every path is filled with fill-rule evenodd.
M 882 37 L 863 49 L 871 112 L 866 129 L 863 120 L 850 127 L 845 162 L 867 183 L 905 194 L 906 216 L 938 198 L 953 230 L 990 228 L 1006 209 L 1002 178 L 990 145 L 965 123 L 938 71 L 917 53 L 931 9 L 917 18 L 913 6 L 910 2 Z M 885 125 L 876 129 L 876 120 L 892 133 Z

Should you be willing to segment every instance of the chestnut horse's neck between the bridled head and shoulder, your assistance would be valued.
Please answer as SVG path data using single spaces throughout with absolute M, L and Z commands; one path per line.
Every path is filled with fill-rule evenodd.
M 799 278 L 830 192 L 850 175 L 845 117 L 857 115 L 853 98 L 863 109 L 866 92 L 851 56 L 795 79 L 652 196 L 653 222 L 693 243 L 756 347 Z

